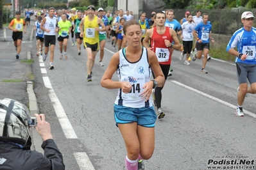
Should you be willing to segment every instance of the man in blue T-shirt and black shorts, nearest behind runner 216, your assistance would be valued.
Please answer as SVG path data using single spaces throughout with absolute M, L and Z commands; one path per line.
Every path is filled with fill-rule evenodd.
M 192 61 L 196 61 L 196 58 L 200 59 L 203 52 L 203 65 L 201 73 L 208 73 L 205 70 L 207 63 L 207 54 L 210 50 L 210 41 L 214 43 L 214 39 L 211 36 L 212 25 L 208 22 L 208 14 L 203 13 L 203 22 L 198 24 L 193 31 L 193 36 L 196 39 L 197 52 L 193 54 Z

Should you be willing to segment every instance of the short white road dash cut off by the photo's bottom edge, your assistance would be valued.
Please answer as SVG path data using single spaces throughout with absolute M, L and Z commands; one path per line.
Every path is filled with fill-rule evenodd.
M 95 170 L 94 166 L 92 166 L 92 162 L 90 162 L 90 158 L 85 152 L 76 152 L 74 153 L 74 157 L 76 158 L 80 170 Z

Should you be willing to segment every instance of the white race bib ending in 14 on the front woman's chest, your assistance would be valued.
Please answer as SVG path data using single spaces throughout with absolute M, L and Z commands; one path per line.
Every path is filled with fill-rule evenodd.
M 142 87 L 145 84 L 145 77 L 144 75 L 133 75 L 129 77 L 125 77 L 123 81 L 128 81 L 132 84 L 132 89 L 129 93 L 123 93 L 122 91 L 122 98 L 126 100 L 137 100 L 140 99 L 140 94 L 144 89 Z

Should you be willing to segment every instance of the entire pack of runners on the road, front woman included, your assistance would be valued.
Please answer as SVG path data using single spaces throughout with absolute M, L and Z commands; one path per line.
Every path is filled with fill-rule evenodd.
M 185 17 L 178 22 L 173 10 L 152 12 L 149 20 L 146 19 L 146 13 L 141 13 L 139 20 L 134 20 L 129 11 L 124 15 L 123 10 L 110 16 L 110 13 L 104 14 L 103 8 L 96 10 L 93 5 L 88 6 L 84 15 L 76 8 L 72 8 L 71 12 L 67 15 L 65 10 L 56 12 L 55 8 L 49 8 L 46 16 L 38 15 L 34 28 L 37 55 L 46 61 L 50 50 L 49 69 L 53 70 L 56 33 L 60 45 L 60 59 L 67 59 L 67 40 L 71 34 L 76 38 L 73 43 L 76 42 L 78 55 L 81 54 L 81 44 L 87 52 L 87 82 L 90 82 L 98 50 L 99 65 L 104 66 L 106 40 L 111 40 L 114 49 L 115 45 L 118 46 L 118 52 L 111 58 L 101 79 L 101 86 L 119 89 L 114 105 L 114 117 L 128 152 L 124 168 L 144 169 L 142 160 L 151 157 L 155 146 L 155 121 L 166 115 L 161 107 L 161 91 L 172 70 L 173 50 L 180 50 L 183 45 L 179 59 L 182 61 L 185 55 L 184 65 L 190 65 L 192 51 L 192 61 L 200 59 L 203 55 L 201 73 L 208 73 L 205 66 L 209 60 L 210 43 L 214 43 L 209 15 L 203 13 L 201 16 L 200 10 L 194 16 L 185 12 Z M 256 30 L 252 27 L 254 19 L 252 12 L 243 13 L 241 21 L 244 26 L 234 33 L 226 48 L 227 52 L 237 56 L 237 116 L 244 116 L 243 101 L 246 93 L 256 93 Z M 26 33 L 26 26 L 26 22 L 21 19 L 21 13 L 16 12 L 16 18 L 10 23 L 9 29 L 13 30 L 17 59 L 21 51 L 22 31 Z M 182 43 L 178 39 L 179 35 Z M 117 72 L 119 81 L 112 81 L 114 72 Z M 153 80 L 150 80 L 151 75 Z M 247 79 L 251 84 L 249 88 Z M 153 105 L 157 107 L 157 114 Z

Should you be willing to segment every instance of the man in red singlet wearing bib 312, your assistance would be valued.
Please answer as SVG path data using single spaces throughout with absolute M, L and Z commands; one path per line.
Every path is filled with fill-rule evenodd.
M 171 65 L 171 48 L 175 50 L 180 50 L 180 42 L 178 41 L 177 34 L 174 29 L 169 29 L 164 23 L 166 22 L 166 15 L 162 12 L 159 12 L 155 15 L 156 27 L 148 29 L 146 31 L 146 36 L 143 40 L 143 46 L 149 47 L 148 42 L 151 40 L 151 50 L 157 55 L 157 59 L 162 72 L 164 73 L 165 79 L 169 72 L 169 67 Z M 172 42 L 175 42 L 172 44 Z M 154 74 L 153 74 L 154 77 Z M 158 119 L 162 119 L 165 116 L 165 113 L 161 108 L 162 100 L 162 88 L 158 86 L 153 91 L 153 104 L 157 106 L 157 116 Z

